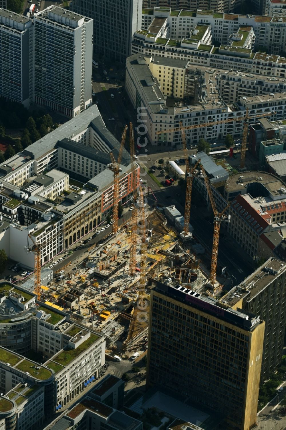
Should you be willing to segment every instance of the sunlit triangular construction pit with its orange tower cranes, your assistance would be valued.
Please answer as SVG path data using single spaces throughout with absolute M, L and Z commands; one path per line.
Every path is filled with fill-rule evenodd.
M 151 209 L 147 206 L 148 186 L 138 180 L 135 162 L 134 135 L 130 123 L 130 156 L 133 164 L 132 189 L 129 199 L 131 218 L 118 225 L 120 158 L 126 137 L 123 131 L 118 160 L 111 157 L 107 167 L 114 173 L 112 233 L 94 243 L 82 253 L 76 263 L 69 262 L 54 271 L 49 286 L 41 286 L 40 246 L 30 248 L 35 254 L 35 293 L 46 305 L 63 309 L 70 319 L 92 327 L 106 338 L 108 356 L 130 358 L 134 351 L 140 355 L 148 347 L 150 291 L 156 283 L 178 286 L 202 295 L 222 296 L 223 283 L 217 279 L 217 254 L 220 224 L 227 221 L 229 206 L 218 212 L 211 185 L 200 160 L 189 164 L 184 128 L 181 133 L 186 162 L 186 203 L 181 224 L 170 222 L 169 208 Z M 214 211 L 214 238 L 211 268 L 199 260 L 202 246 L 193 238 L 190 205 L 193 177 L 205 181 Z M 166 216 L 165 216 L 166 214 Z M 168 218 L 168 219 L 167 219 Z M 173 225 L 172 225 L 173 224 Z M 181 227 L 181 228 L 180 228 Z

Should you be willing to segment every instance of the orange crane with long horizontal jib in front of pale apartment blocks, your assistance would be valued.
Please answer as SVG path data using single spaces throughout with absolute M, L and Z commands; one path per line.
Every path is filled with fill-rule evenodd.
M 259 118 L 268 117 L 269 115 L 274 114 L 274 113 L 275 113 L 274 111 L 271 111 L 271 112 L 266 112 L 265 114 L 259 114 L 257 116 L 255 115 L 253 117 L 250 117 L 249 116 L 249 110 L 247 107 L 246 113 L 243 117 L 233 117 L 233 118 L 228 118 L 227 120 L 212 121 L 209 123 L 202 123 L 202 124 L 194 124 L 193 126 L 182 126 L 180 123 L 180 128 L 182 129 L 182 127 L 183 127 L 184 130 L 192 130 L 192 129 L 202 128 L 202 127 L 212 127 L 212 126 L 216 126 L 218 124 L 232 123 L 234 121 L 235 122 L 243 121 L 242 143 L 241 143 L 241 163 L 240 163 L 240 166 L 243 169 L 244 165 L 245 165 L 245 153 L 246 153 L 249 120 L 254 119 L 254 118 L 256 120 L 259 120 Z M 172 132 L 178 131 L 180 128 L 176 127 L 174 129 L 160 130 L 160 131 L 156 132 L 156 134 L 172 133 Z

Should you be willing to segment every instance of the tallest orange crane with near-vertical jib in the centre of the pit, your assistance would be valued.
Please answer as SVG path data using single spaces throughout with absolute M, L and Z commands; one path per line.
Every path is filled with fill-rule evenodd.
M 130 142 L 130 156 L 131 156 L 131 178 L 133 190 L 133 209 L 131 216 L 131 243 L 130 243 L 130 261 L 129 261 L 129 275 L 134 275 L 136 268 L 136 242 L 137 242 L 137 220 L 138 210 L 136 206 L 137 200 L 137 170 L 135 162 L 135 147 L 134 147 L 134 130 L 132 123 L 129 124 L 129 142 Z

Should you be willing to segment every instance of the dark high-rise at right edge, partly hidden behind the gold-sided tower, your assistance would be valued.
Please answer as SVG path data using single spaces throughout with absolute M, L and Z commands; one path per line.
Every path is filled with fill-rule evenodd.
M 265 321 L 261 382 L 280 364 L 286 326 L 286 264 L 269 258 L 248 278 L 231 289 L 222 299 L 233 309 L 243 310 Z

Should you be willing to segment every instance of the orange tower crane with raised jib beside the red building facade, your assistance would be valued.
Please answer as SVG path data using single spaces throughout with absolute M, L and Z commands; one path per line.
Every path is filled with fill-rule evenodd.
M 111 164 L 107 165 L 108 169 L 110 169 L 114 173 L 114 181 L 113 181 L 113 224 L 112 224 L 112 233 L 114 233 L 114 234 L 116 234 L 118 231 L 119 173 L 121 171 L 120 162 L 121 162 L 123 147 L 124 147 L 124 143 L 125 143 L 127 128 L 128 127 L 125 126 L 123 133 L 122 133 L 122 138 L 121 138 L 117 162 L 115 161 L 113 153 L 110 152 Z

